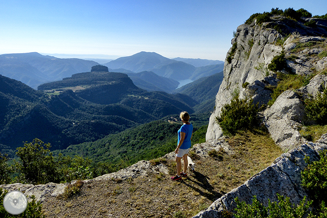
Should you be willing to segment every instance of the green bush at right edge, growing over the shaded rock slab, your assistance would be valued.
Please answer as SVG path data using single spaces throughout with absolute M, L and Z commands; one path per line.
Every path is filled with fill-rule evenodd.
M 327 150 L 320 152 L 320 160 L 311 162 L 308 157 L 305 162 L 308 166 L 301 172 L 302 186 L 310 190 L 313 199 L 327 202 Z

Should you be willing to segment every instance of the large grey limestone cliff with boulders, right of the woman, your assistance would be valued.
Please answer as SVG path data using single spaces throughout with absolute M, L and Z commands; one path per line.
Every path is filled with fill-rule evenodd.
M 304 24 L 311 21 L 314 27 Z M 252 98 L 254 103 L 267 104 L 278 79 L 268 69 L 274 56 L 285 53 L 288 71 L 299 75 L 323 72 L 327 69 L 327 20 L 302 18 L 300 21 L 272 16 L 270 22 L 243 24 L 237 28 L 232 47 L 226 55 L 224 79 L 216 96 L 216 107 L 209 121 L 206 139 L 218 139 L 222 130 L 215 122 L 224 104 L 235 95 Z M 323 36 L 323 37 L 322 37 Z M 297 49 L 300 48 L 300 49 Z M 325 56 L 325 57 L 324 57 Z M 283 70 L 282 73 L 289 73 Z M 327 81 L 326 74 L 318 74 L 310 84 L 297 90 L 303 95 L 315 95 Z M 287 91 L 279 96 L 271 108 L 264 111 L 264 124 L 273 140 L 284 150 L 306 142 L 298 132 L 305 121 L 304 106 L 299 95 Z

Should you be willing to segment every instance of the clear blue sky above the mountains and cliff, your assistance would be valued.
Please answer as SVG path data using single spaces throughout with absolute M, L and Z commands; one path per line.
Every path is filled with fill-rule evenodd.
M 224 60 L 233 31 L 276 7 L 325 15 L 327 0 L 1 0 L 0 54 Z

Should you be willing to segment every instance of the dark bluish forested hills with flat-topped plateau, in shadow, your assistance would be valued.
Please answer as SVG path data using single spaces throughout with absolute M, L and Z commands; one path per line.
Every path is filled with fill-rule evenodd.
M 192 113 L 198 104 L 185 94 L 147 92 L 121 73 L 79 73 L 41 86 L 48 94 L 3 76 L 0 84 L 1 149 L 34 138 L 64 149 L 182 110 Z

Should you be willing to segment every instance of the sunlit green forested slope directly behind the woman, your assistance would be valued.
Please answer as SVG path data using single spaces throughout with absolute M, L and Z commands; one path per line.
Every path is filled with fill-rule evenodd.
M 140 160 L 150 160 L 173 151 L 177 143 L 177 131 L 183 125 L 179 114 L 139 125 L 118 134 L 110 134 L 94 142 L 70 145 L 54 154 L 91 159 L 95 164 L 107 163 L 109 171 L 116 171 Z M 194 133 L 192 144 L 205 141 L 210 113 L 191 115 Z

